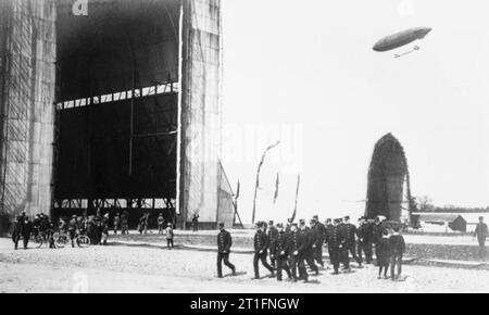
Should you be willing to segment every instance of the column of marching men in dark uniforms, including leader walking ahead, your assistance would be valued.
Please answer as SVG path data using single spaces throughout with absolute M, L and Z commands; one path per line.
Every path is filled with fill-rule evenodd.
M 391 267 L 391 279 L 399 278 L 401 274 L 402 255 L 405 251 L 405 242 L 399 234 L 399 227 L 388 227 L 380 217 L 374 222 L 365 217 L 359 219 L 359 225 L 350 223 L 350 217 L 328 218 L 325 224 L 321 223 L 315 215 L 310 225 L 304 219 L 299 223 L 288 220 L 284 226 L 281 223 L 274 224 L 273 220 L 266 224 L 259 222 L 255 225 L 254 235 L 254 256 L 253 269 L 254 279 L 260 278 L 259 262 L 271 273 L 271 277 L 283 280 L 285 272 L 290 280 L 309 281 L 306 265 L 314 275 L 319 274 L 319 267 L 324 269 L 323 245 L 327 244 L 329 260 L 333 265 L 334 275 L 339 274 L 340 265 L 342 269 L 350 272 L 350 254 L 362 267 L 363 253 L 365 263 L 373 263 L 373 248 L 375 245 L 376 264 L 379 267 L 379 278 L 384 272 L 387 277 L 387 269 Z M 217 236 L 217 276 L 223 277 L 222 262 L 228 266 L 233 274 L 236 267 L 229 263 L 229 252 L 231 237 L 224 229 L 224 224 L 220 224 L 221 232 Z M 269 254 L 269 264 L 267 256 Z M 397 266 L 397 275 L 394 267 Z

